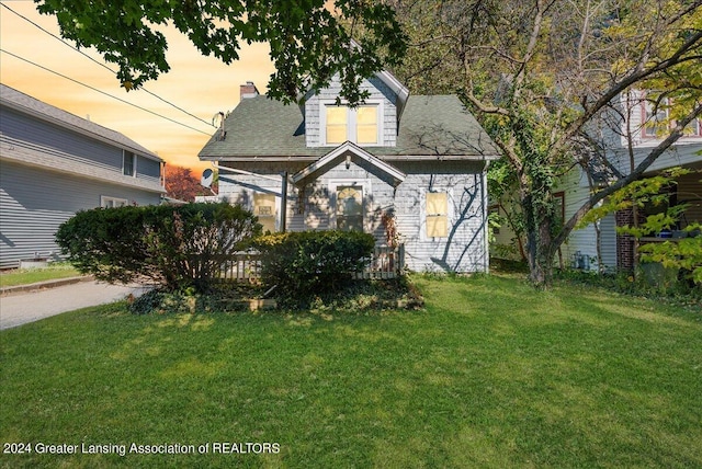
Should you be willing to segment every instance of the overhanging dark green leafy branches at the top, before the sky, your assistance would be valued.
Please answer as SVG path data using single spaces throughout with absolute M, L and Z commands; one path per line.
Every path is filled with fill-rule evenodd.
M 56 15 L 61 36 L 116 64 L 127 91 L 169 70 L 157 30 L 169 22 L 226 64 L 239 57 L 241 43 L 268 42 L 276 69 L 269 94 L 286 102 L 339 73 L 342 94 L 355 103 L 364 95 L 361 79 L 396 65 L 406 49 L 393 10 L 367 0 L 35 1 L 39 13 Z

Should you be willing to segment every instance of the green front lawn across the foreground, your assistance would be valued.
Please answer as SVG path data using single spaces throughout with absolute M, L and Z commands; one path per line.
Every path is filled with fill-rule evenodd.
M 34 450 L 0 465 L 702 467 L 701 313 L 506 276 L 416 283 L 422 311 L 131 316 L 117 304 L 3 331 L 3 449 L 210 451 Z M 280 451 L 214 454 L 218 442 Z

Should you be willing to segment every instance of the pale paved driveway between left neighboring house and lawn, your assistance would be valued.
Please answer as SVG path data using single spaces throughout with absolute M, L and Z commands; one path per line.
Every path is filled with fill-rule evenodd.
M 104 283 L 75 282 L 68 285 L 44 285 L 42 289 L 18 291 L 0 296 L 0 330 L 37 321 L 90 306 L 104 305 L 138 296 L 140 286 L 109 285 Z

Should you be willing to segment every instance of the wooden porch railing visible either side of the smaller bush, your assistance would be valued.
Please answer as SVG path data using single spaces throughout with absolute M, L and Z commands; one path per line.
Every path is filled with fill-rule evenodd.
M 405 245 L 375 247 L 373 256 L 355 278 L 395 278 L 405 268 Z M 222 279 L 254 282 L 261 277 L 261 258 L 258 252 L 238 252 L 222 264 Z

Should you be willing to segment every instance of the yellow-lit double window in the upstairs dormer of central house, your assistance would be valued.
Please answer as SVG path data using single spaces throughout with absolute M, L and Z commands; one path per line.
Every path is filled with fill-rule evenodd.
M 378 104 L 363 104 L 358 107 L 325 105 L 325 145 L 341 145 L 347 140 L 358 145 L 377 145 L 380 108 Z

